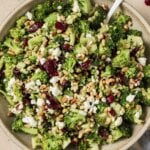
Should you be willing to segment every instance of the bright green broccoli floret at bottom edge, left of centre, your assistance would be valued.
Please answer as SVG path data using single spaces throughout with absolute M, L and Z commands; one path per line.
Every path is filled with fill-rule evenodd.
M 61 135 L 47 134 L 42 139 L 43 150 L 62 150 L 65 149 L 69 144 L 69 138 Z M 66 144 L 67 141 L 67 144 Z M 64 146 L 64 144 L 66 144 Z

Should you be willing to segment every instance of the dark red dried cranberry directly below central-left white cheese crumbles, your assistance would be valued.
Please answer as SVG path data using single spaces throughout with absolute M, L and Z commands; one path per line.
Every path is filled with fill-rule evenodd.
M 52 109 L 60 109 L 61 108 L 60 103 L 53 96 L 50 96 L 50 95 L 47 94 L 47 99 L 50 102 L 50 104 L 47 104 L 49 108 L 52 108 Z

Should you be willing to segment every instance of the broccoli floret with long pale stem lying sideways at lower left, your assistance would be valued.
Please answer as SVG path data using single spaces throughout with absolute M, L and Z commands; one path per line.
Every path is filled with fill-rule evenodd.
M 31 135 L 37 135 L 37 129 L 36 128 L 27 128 L 24 126 L 22 119 L 20 119 L 19 117 L 17 117 L 13 123 L 12 123 L 12 130 L 13 131 L 22 131 L 25 132 L 27 134 L 31 134 Z

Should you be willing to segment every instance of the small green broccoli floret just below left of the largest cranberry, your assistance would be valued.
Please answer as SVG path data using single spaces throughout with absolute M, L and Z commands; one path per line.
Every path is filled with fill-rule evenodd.
M 48 74 L 45 71 L 38 71 L 32 74 L 32 80 L 40 80 L 43 84 L 48 82 Z

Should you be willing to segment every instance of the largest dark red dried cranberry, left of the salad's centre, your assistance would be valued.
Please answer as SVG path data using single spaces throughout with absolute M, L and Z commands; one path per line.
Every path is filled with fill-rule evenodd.
M 55 59 L 53 60 L 49 59 L 42 65 L 42 69 L 47 72 L 49 77 L 58 76 L 57 68 L 58 63 Z

